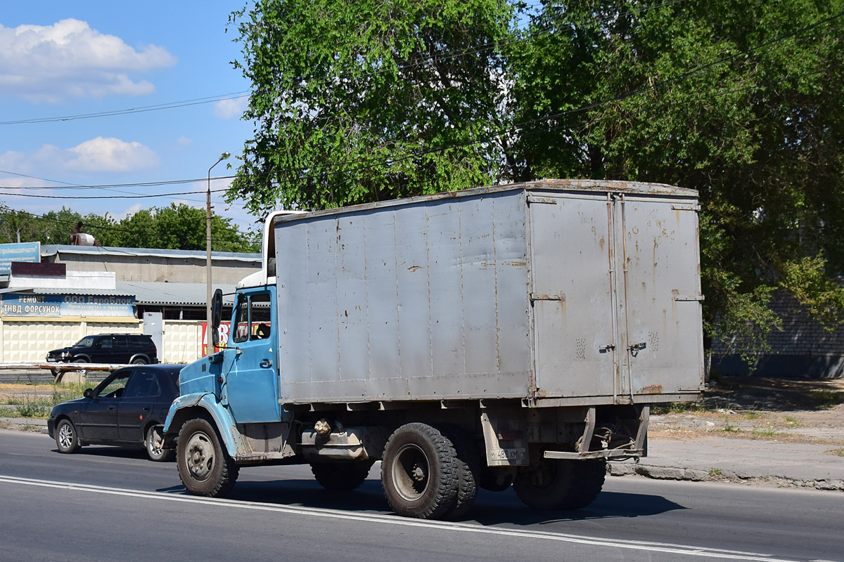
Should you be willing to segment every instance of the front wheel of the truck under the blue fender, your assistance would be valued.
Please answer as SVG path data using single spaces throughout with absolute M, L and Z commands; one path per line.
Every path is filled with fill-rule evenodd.
M 192 495 L 216 498 L 235 485 L 237 465 L 220 445 L 214 424 L 204 417 L 181 426 L 176 457 L 181 483 Z

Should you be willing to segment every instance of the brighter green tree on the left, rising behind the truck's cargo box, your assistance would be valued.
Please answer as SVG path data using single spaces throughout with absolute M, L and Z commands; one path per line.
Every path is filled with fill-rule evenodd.
M 230 195 L 264 216 L 489 184 L 511 14 L 505 0 L 257 0 L 233 13 L 257 128 Z

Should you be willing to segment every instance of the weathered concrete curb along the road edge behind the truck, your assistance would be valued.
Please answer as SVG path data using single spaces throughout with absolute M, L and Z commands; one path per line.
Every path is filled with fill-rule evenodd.
M 773 484 L 778 487 L 812 488 L 814 490 L 844 491 L 844 480 L 803 480 L 788 476 L 766 474 L 759 476 L 712 468 L 663 467 L 652 464 L 607 463 L 609 476 L 643 476 L 655 480 L 689 480 L 692 482 L 741 482 L 744 484 Z

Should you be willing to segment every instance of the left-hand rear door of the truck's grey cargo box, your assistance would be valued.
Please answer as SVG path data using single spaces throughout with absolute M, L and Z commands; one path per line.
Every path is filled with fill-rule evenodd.
M 613 396 L 606 195 L 528 195 L 537 397 Z

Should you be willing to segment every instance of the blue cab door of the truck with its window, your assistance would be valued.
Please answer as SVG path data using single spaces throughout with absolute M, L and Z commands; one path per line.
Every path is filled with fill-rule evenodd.
M 237 423 L 279 421 L 279 380 L 276 354 L 279 345 L 273 286 L 241 291 L 235 302 L 235 321 L 230 329 L 232 356 L 226 361 L 222 402 Z

